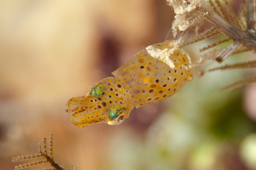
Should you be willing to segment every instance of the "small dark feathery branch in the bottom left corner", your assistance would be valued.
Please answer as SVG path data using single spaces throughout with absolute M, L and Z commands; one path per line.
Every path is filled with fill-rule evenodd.
M 53 134 L 51 134 L 49 136 L 49 148 L 50 150 L 47 150 L 47 142 L 46 142 L 46 138 L 44 138 L 44 144 L 43 146 L 41 146 L 40 144 L 38 144 L 38 151 L 39 154 L 34 154 L 34 155 L 26 155 L 26 156 L 18 156 L 18 157 L 14 157 L 12 158 L 12 162 L 18 162 L 18 161 L 24 161 L 27 159 L 35 159 L 35 158 L 45 158 L 45 160 L 40 160 L 40 161 L 36 161 L 36 162 L 28 162 L 28 163 L 24 163 L 24 164 L 20 164 L 19 166 L 15 166 L 14 170 L 20 170 L 20 169 L 24 169 L 24 168 L 28 168 L 28 167 L 32 167 L 32 166 L 36 166 L 36 165 L 41 165 L 44 163 L 50 163 L 52 168 L 49 168 L 47 170 L 65 170 L 62 166 L 60 166 L 59 164 L 57 164 L 54 160 L 53 160 Z

